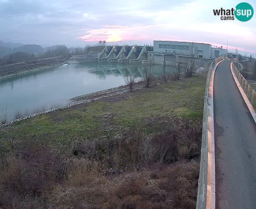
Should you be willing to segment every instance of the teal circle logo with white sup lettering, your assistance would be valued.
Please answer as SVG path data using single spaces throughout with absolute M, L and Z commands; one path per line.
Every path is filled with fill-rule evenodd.
M 237 20 L 242 22 L 251 20 L 253 16 L 253 8 L 251 4 L 245 2 L 237 4 L 235 8 L 235 16 Z

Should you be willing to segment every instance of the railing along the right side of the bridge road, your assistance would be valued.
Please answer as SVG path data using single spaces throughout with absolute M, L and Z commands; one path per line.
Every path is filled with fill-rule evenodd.
M 252 87 L 249 85 L 247 80 L 243 77 L 243 75 L 237 69 L 237 67 L 235 66 L 233 61 L 232 61 L 232 68 L 234 70 L 237 80 L 239 81 L 241 87 L 244 90 L 244 93 L 247 95 L 247 98 L 249 99 L 254 112 L 256 112 L 256 93 L 255 93 L 255 91 L 252 89 Z

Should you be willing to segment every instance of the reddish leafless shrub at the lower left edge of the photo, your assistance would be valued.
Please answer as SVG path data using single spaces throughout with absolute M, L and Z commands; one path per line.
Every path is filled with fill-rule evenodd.
M 19 193 L 38 193 L 57 179 L 57 157 L 49 148 L 27 149 L 1 161 L 2 185 Z

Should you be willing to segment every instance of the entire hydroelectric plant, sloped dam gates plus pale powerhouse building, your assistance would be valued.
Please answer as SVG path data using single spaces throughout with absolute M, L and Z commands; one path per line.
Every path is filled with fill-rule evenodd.
M 108 63 L 147 63 L 175 66 L 176 62 L 184 61 L 186 57 L 213 59 L 227 55 L 227 49 L 213 47 L 211 44 L 179 41 L 154 41 L 149 45 L 107 45 L 94 57 L 77 59 L 79 63 L 108 62 Z

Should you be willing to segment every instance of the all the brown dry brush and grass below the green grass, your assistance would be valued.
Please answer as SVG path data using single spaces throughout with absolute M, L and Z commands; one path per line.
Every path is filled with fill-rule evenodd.
M 80 140 L 73 157 L 23 143 L 1 158 L 0 207 L 195 208 L 200 124 L 179 119 L 154 134 L 124 128 L 113 138 Z

